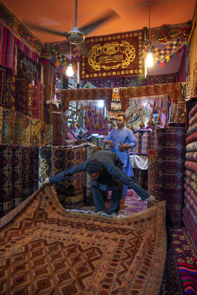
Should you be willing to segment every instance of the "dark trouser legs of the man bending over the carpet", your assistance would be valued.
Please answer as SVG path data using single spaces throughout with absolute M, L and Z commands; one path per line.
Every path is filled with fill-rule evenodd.
M 122 188 L 117 191 L 112 191 L 111 203 L 110 203 L 110 215 L 113 213 L 118 214 L 120 210 L 120 200 L 122 196 Z M 105 200 L 102 194 L 102 190 L 92 186 L 92 197 L 95 204 L 95 212 L 105 210 Z

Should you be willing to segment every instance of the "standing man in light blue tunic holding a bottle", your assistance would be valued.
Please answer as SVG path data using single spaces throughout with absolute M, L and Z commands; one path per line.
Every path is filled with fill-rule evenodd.
M 133 132 L 124 127 L 126 124 L 126 117 L 124 115 L 118 115 L 116 119 L 117 129 L 113 129 L 107 137 L 103 140 L 103 143 L 109 145 L 110 150 L 116 153 L 123 162 L 123 171 L 128 176 L 134 176 L 133 169 L 129 158 L 129 149 L 134 148 L 137 145 Z M 122 146 L 119 146 L 119 142 L 123 142 Z M 126 198 L 128 187 L 123 184 L 122 199 Z

